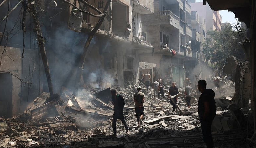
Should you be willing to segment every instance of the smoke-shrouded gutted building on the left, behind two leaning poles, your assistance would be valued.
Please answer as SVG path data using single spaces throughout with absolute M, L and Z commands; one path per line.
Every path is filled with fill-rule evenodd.
M 95 14 L 95 10 L 83 6 L 78 1 L 70 0 L 69 2 Z M 88 0 L 87 2 L 103 11 L 107 1 Z M 99 18 L 88 13 L 77 12 L 75 7 L 68 3 L 61 1 L 52 3 L 52 1 L 37 1 L 37 9 L 40 10 L 53 89 L 60 93 L 63 88 L 73 89 L 75 76 L 70 73 L 75 73 L 73 69 L 77 67 L 88 32 L 96 26 Z M 16 3 L 11 2 L 11 5 L 16 5 Z M 57 7 L 52 5 L 57 5 Z M 1 11 L 7 12 L 9 5 L 4 3 L 2 7 Z M 0 87 L 4 88 L 1 91 L 5 94 L 0 99 L 0 104 L 3 105 L 0 116 L 16 116 L 24 111 L 27 102 L 32 101 L 42 92 L 49 92 L 33 32 L 35 28 L 31 19 L 32 14 L 23 15 L 19 11 L 21 9 L 20 4 L 12 11 L 7 22 L 11 25 L 7 26 L 7 30 L 13 27 L 14 31 L 19 31 L 15 28 L 15 20 L 23 18 L 24 26 L 26 26 L 24 42 L 23 33 L 20 32 L 10 38 L 8 44 L 5 44 L 7 40 L 4 38 L 0 48 L 3 53 L 1 71 L 4 71 L 0 73 Z M 151 14 L 153 9 L 153 0 L 111 1 L 104 21 L 91 41 L 80 87 L 87 83 L 100 89 L 113 85 L 123 87 L 125 82 L 133 81 L 138 77 L 139 66 L 153 74 L 155 65 L 139 63 L 138 53 L 139 50 L 152 51 L 153 49 L 150 43 L 140 40 L 142 36 L 141 15 Z M 3 18 L 5 15 L 1 13 L 0 17 Z M 1 30 L 4 30 L 4 27 L 2 23 Z M 24 84 L 6 72 L 15 74 L 24 82 L 32 83 Z

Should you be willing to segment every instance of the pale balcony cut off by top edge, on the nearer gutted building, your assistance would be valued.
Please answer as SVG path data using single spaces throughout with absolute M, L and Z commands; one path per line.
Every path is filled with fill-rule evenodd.
M 133 1 L 134 11 L 139 14 L 150 14 L 154 12 L 154 0 L 135 0 Z

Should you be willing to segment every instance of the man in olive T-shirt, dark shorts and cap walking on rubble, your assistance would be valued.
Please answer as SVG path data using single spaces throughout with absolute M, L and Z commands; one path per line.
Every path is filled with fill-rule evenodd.
M 134 94 L 134 102 L 135 102 L 135 113 L 136 113 L 136 119 L 138 122 L 138 128 L 140 128 L 140 125 L 142 124 L 142 117 L 144 112 L 144 106 L 143 103 L 145 101 L 145 95 L 144 93 L 140 92 L 141 87 L 137 87 L 137 93 Z

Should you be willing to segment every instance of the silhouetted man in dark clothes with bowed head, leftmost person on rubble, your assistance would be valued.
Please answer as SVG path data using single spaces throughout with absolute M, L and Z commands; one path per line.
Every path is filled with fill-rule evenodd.
M 114 105 L 114 114 L 113 114 L 113 121 L 112 121 L 112 128 L 114 132 L 114 136 L 117 136 L 117 127 L 116 127 L 116 122 L 117 119 L 120 119 L 126 129 L 126 134 L 129 132 L 129 128 L 124 120 L 123 116 L 123 107 L 124 107 L 124 99 L 123 96 L 120 94 L 117 94 L 117 91 L 115 89 L 112 89 L 111 91 L 112 95 L 112 103 Z

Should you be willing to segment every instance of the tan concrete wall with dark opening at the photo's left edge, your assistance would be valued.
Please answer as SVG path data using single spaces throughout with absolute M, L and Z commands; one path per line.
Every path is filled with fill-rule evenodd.
M 3 51 L 4 47 L 0 46 L 0 52 L 3 53 Z M 0 71 L 10 72 L 21 77 L 21 51 L 19 48 L 6 47 Z M 21 82 L 16 77 L 0 73 L 0 117 L 11 118 L 18 115 L 20 86 Z

